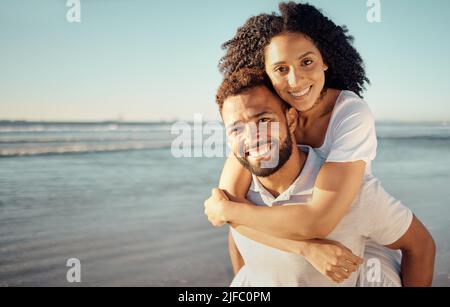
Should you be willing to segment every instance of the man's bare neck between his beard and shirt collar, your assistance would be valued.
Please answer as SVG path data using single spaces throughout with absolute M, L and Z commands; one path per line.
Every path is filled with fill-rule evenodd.
M 269 177 L 258 177 L 259 182 L 274 197 L 289 189 L 300 175 L 306 161 L 306 154 L 294 145 L 291 157 L 275 174 Z

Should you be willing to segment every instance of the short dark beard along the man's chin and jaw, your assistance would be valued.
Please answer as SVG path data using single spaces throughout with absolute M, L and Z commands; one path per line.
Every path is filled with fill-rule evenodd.
M 289 131 L 289 130 L 288 130 Z M 248 169 L 252 174 L 254 174 L 257 177 L 269 177 L 276 172 L 278 172 L 284 164 L 289 160 L 289 158 L 292 155 L 292 140 L 291 136 L 288 134 L 284 142 L 279 146 L 279 155 L 278 155 L 278 164 L 275 167 L 261 167 L 260 166 L 254 166 L 251 165 L 250 162 L 247 160 L 247 158 L 239 157 L 237 155 L 236 158 L 239 160 L 239 162 Z M 273 159 L 273 157 L 270 157 Z M 267 161 L 261 161 L 260 164 L 268 164 Z

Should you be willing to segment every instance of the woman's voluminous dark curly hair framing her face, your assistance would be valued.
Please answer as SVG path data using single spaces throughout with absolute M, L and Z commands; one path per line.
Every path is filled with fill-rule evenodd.
M 317 8 L 309 4 L 285 2 L 279 5 L 281 14 L 261 14 L 251 17 L 237 30 L 235 37 L 222 45 L 226 51 L 219 70 L 227 78 L 242 68 L 265 69 L 264 49 L 273 37 L 287 32 L 308 36 L 328 65 L 325 87 L 350 90 L 362 96 L 366 77 L 364 63 L 353 47 L 353 37 L 345 26 L 337 26 Z

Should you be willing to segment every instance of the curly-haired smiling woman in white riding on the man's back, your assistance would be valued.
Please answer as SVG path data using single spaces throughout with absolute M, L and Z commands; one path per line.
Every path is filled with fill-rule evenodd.
M 368 79 L 345 28 L 308 4 L 282 3 L 280 12 L 281 16 L 252 17 L 239 28 L 224 44 L 226 55 L 220 69 L 225 77 L 242 68 L 265 70 L 279 96 L 299 111 L 297 143 L 315 148 L 326 161 L 313 199 L 304 206 L 245 204 L 251 174 L 231 155 L 220 188 L 235 202 L 221 202 L 213 196 L 205 202 L 205 212 L 216 226 L 226 222 L 243 225 L 291 240 L 285 242 L 325 238 L 346 214 L 364 178 L 372 176 L 375 124 L 368 105 L 360 98 Z M 246 235 L 251 236 L 251 231 Z M 351 258 L 351 252 L 335 242 L 316 247 L 311 261 L 323 274 L 329 263 L 318 259 L 333 259 L 333 244 L 341 250 L 337 254 L 346 252 L 348 260 Z M 381 258 L 382 280 L 378 285 L 401 286 L 398 256 L 374 243 L 367 245 L 365 259 Z M 353 260 L 352 268 L 356 262 Z M 326 274 L 340 282 L 351 271 L 336 267 Z M 360 278 L 360 285 L 365 283 L 366 279 Z

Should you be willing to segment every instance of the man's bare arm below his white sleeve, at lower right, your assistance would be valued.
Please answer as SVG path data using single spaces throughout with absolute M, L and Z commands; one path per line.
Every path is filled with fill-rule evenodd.
M 408 231 L 387 247 L 402 251 L 401 275 L 404 287 L 431 286 L 436 244 L 428 230 L 415 216 Z

